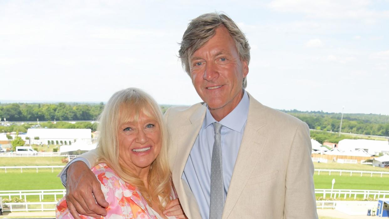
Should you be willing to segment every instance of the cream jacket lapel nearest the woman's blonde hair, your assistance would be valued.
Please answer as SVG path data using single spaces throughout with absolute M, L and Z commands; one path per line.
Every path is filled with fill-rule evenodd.
M 189 213 L 188 215 L 192 214 L 189 207 L 189 200 L 191 199 L 189 196 L 193 196 L 193 194 L 188 194 L 189 188 L 185 188 L 187 185 L 184 185 L 185 182 L 181 177 L 182 173 L 184 173 L 187 158 L 203 124 L 205 112 L 206 108 L 203 105 L 187 121 L 184 121 L 184 124 L 178 128 L 177 132 L 177 156 L 172 168 L 172 178 L 181 206 L 185 212 Z M 192 198 L 195 199 L 194 196 Z

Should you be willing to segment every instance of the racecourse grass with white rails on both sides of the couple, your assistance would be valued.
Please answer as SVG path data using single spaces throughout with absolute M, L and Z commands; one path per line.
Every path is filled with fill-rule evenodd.
M 59 165 L 63 166 L 61 157 L 39 157 L 39 158 L 0 158 L 0 166 L 45 166 L 45 165 Z M 387 169 L 372 167 L 370 165 L 361 164 L 338 164 L 338 163 L 314 163 L 316 169 L 341 169 L 341 170 L 365 170 L 365 171 L 385 171 Z M 7 173 L 0 169 L 0 190 L 33 190 L 33 189 L 64 189 L 59 177 L 56 177 L 60 172 L 60 168 L 39 169 L 7 169 Z M 334 189 L 366 189 L 366 190 L 389 190 L 389 175 L 383 175 L 382 178 L 378 174 L 364 173 L 360 174 L 350 173 L 321 172 L 318 175 L 316 171 L 314 174 L 314 182 L 316 189 L 331 189 L 331 181 L 335 179 Z M 319 198 L 322 194 L 317 194 Z M 362 200 L 363 197 L 357 196 L 357 200 Z M 39 201 L 38 196 L 27 196 L 28 201 Z M 340 200 L 343 200 L 341 198 Z M 352 199 L 353 200 L 353 199 Z M 45 196 L 45 201 L 54 201 L 54 196 Z

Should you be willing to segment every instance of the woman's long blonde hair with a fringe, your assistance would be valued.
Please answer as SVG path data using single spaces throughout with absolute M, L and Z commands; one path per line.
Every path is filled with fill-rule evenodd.
M 131 173 L 119 162 L 117 140 L 119 125 L 126 121 L 137 122 L 139 114 L 156 120 L 161 131 L 161 151 L 152 162 L 147 177 L 149 189 L 145 188 L 143 181 L 137 175 Z M 168 135 L 165 124 L 163 124 L 161 108 L 156 101 L 138 88 L 117 91 L 108 100 L 100 114 L 98 131 L 100 132 L 97 147 L 99 162 L 107 163 L 121 179 L 136 186 L 150 206 L 152 203 L 147 197 L 154 198 L 152 200 L 160 203 L 159 208 L 163 209 L 170 201 L 171 192 L 170 170 L 167 161 Z

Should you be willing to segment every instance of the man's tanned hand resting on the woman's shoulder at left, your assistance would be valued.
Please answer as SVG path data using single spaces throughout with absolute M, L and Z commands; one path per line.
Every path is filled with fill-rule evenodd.
M 68 167 L 66 202 L 75 219 L 81 219 L 79 214 L 95 218 L 107 215 L 103 207 L 108 207 L 108 202 L 105 201 L 100 183 L 82 161 L 75 161 Z

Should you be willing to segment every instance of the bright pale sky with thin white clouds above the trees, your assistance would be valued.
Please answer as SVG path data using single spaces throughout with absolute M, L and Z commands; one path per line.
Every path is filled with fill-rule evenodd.
M 0 1 L 0 100 L 202 100 L 177 58 L 191 19 L 225 12 L 251 46 L 247 91 L 275 109 L 389 115 L 389 0 Z

